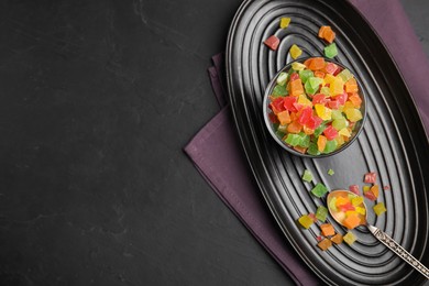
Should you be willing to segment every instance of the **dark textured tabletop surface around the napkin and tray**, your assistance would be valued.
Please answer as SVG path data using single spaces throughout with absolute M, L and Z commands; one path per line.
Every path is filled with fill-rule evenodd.
M 0 3 L 0 284 L 290 283 L 182 152 L 240 2 Z

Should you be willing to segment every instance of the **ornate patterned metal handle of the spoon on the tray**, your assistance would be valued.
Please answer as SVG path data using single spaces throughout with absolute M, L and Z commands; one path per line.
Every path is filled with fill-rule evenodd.
M 384 233 L 381 229 L 375 228 L 373 226 L 369 226 L 369 229 L 377 240 L 380 240 L 384 245 L 395 252 L 396 255 L 406 261 L 409 265 L 420 272 L 427 279 L 429 279 L 429 270 L 418 260 L 416 260 L 411 254 L 409 254 L 409 252 L 404 250 L 398 243 L 396 243 L 396 241 L 394 241 L 389 235 Z

